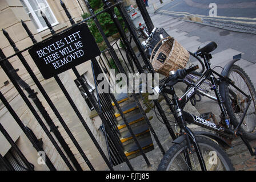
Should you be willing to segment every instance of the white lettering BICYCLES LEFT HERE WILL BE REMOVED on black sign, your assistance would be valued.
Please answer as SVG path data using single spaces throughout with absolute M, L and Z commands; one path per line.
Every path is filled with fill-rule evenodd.
M 83 47 L 81 40 L 79 40 L 81 38 L 80 31 L 77 31 L 36 51 L 37 55 L 39 58 L 42 57 L 45 64 L 51 63 L 54 69 L 57 69 L 85 54 L 81 49 Z

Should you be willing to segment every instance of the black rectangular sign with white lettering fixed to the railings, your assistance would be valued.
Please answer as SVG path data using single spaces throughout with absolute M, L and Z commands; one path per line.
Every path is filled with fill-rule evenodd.
M 40 42 L 29 53 L 48 79 L 101 54 L 86 23 Z

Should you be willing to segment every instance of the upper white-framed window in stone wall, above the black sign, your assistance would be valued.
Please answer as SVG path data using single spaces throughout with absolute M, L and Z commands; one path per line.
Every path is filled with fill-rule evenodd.
M 41 16 L 41 11 L 45 13 L 46 18 L 51 23 L 51 26 L 58 24 L 57 19 L 55 18 L 53 11 L 51 11 L 50 6 L 46 0 L 20 0 L 23 7 L 26 10 L 26 13 L 29 15 L 31 21 L 34 23 L 37 31 L 43 31 L 47 29 L 45 20 Z

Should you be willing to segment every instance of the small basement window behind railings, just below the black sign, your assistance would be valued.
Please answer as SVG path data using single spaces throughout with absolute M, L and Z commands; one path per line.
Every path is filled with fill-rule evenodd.
M 89 90 L 90 94 L 93 95 L 93 90 L 95 89 L 95 86 L 93 86 L 88 79 L 86 78 L 86 73 L 82 75 L 83 82 L 85 83 L 87 89 Z M 85 90 L 82 88 L 82 85 L 78 80 L 75 80 L 75 84 L 79 88 L 83 98 L 85 98 L 86 104 L 89 106 L 90 110 L 94 110 L 93 104 L 91 104 L 91 101 L 89 100 L 89 97 L 87 97 L 87 94 L 85 93 Z

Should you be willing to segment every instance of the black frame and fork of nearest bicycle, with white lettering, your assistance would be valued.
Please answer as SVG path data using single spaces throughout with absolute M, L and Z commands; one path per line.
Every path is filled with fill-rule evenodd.
M 206 59 L 206 56 L 203 57 L 204 61 L 205 61 L 205 66 L 206 66 L 206 71 L 205 73 L 203 73 L 203 75 L 201 76 L 201 78 L 199 78 L 199 80 L 197 82 L 195 82 L 194 86 L 191 86 L 191 88 L 189 88 L 187 90 L 186 93 L 183 94 L 183 96 L 181 96 L 180 98 L 177 97 L 177 95 L 175 94 L 175 90 L 173 88 L 173 86 L 170 87 L 169 90 L 169 94 L 173 95 L 173 104 L 168 103 L 170 110 L 173 112 L 174 114 L 174 118 L 176 119 L 181 132 L 183 134 L 187 134 L 186 135 L 186 140 L 187 140 L 187 146 L 189 147 L 189 151 L 191 152 L 191 144 L 193 143 L 194 148 L 195 148 L 195 152 L 197 153 L 198 159 L 199 159 L 199 163 L 201 165 L 202 170 L 206 170 L 206 166 L 205 166 L 205 162 L 203 160 L 201 151 L 199 150 L 198 147 L 198 143 L 195 140 L 194 134 L 193 132 L 186 126 L 186 123 L 193 123 L 195 125 L 198 126 L 202 126 L 205 127 L 206 129 L 209 130 L 213 130 L 216 131 L 217 133 L 221 133 L 222 135 L 225 135 L 226 137 L 232 137 L 234 135 L 239 135 L 239 137 L 241 137 L 241 139 L 243 140 L 243 142 L 245 142 L 247 148 L 250 151 L 251 155 L 254 155 L 251 146 L 249 144 L 249 142 L 247 142 L 247 140 L 245 140 L 241 133 L 238 132 L 238 128 L 241 126 L 241 123 L 243 122 L 243 119 L 245 118 L 245 115 L 247 113 L 248 107 L 250 105 L 250 101 L 251 98 L 250 96 L 248 96 L 246 93 L 244 93 L 241 89 L 239 89 L 237 86 L 234 85 L 234 82 L 231 81 L 229 78 L 227 77 L 223 77 L 221 75 L 219 75 L 217 72 L 215 72 L 213 69 L 210 68 L 210 64 L 209 64 L 209 60 Z M 243 113 L 243 117 L 241 118 L 241 121 L 239 122 L 239 125 L 236 127 L 235 130 L 231 130 L 230 129 L 230 123 L 228 121 L 228 116 L 225 110 L 225 106 L 223 105 L 223 101 L 221 98 L 221 94 L 219 94 L 218 88 L 217 88 L 217 80 L 214 77 L 214 75 L 217 75 L 219 77 L 219 81 L 226 81 L 229 84 L 231 84 L 232 86 L 234 86 L 235 89 L 239 90 L 239 92 L 241 92 L 244 96 L 246 96 L 247 98 L 249 98 L 249 102 L 247 103 L 246 109 L 245 109 L 245 113 Z M 218 105 L 221 108 L 221 114 L 223 116 L 223 118 L 225 119 L 226 122 L 226 127 L 222 127 L 216 123 L 210 122 L 210 121 L 206 121 L 203 118 L 200 118 L 198 116 L 195 116 L 193 114 L 187 113 L 186 111 L 183 111 L 183 107 L 185 107 L 185 105 L 187 104 L 187 102 L 190 100 L 191 97 L 195 96 L 196 92 L 197 92 L 197 88 L 199 88 L 199 86 L 207 79 L 210 78 L 211 84 L 213 85 L 213 90 L 215 92 L 215 95 L 217 97 L 217 101 L 218 101 Z M 187 156 L 187 154 L 184 154 L 185 156 Z M 188 162 L 189 163 L 189 162 Z

